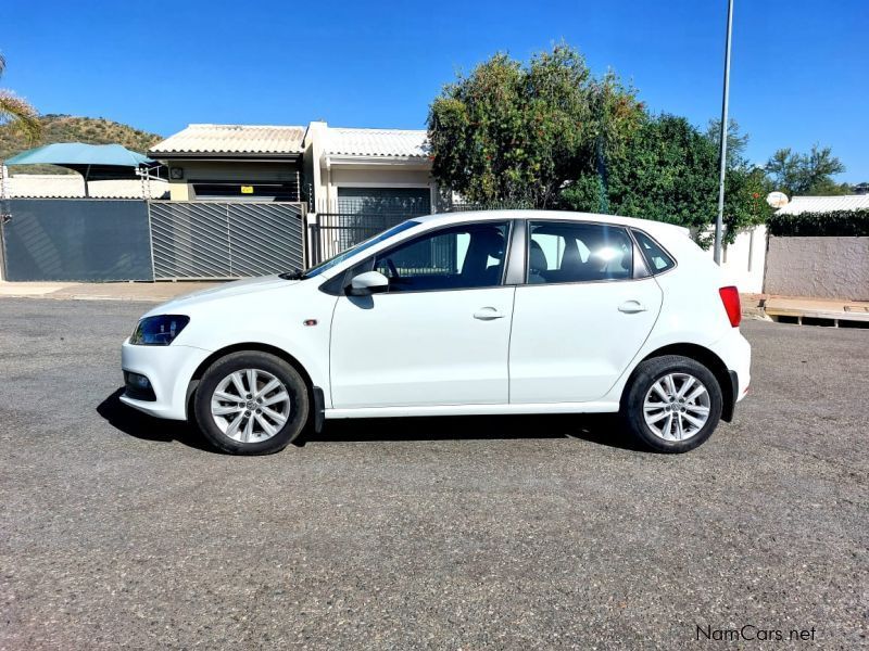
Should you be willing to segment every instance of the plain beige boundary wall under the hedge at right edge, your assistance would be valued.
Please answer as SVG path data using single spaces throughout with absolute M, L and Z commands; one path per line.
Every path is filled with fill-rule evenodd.
M 869 301 L 869 238 L 769 238 L 768 294 Z

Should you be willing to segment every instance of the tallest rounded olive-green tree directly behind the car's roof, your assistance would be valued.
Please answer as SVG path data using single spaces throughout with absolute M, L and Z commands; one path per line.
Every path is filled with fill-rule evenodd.
M 597 174 L 639 125 L 634 92 L 559 44 L 524 65 L 499 53 L 443 88 L 428 116 L 432 173 L 471 202 L 546 207 Z

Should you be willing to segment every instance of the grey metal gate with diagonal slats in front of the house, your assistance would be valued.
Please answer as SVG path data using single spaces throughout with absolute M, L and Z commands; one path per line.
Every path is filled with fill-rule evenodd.
M 300 204 L 151 202 L 154 279 L 263 276 L 304 267 Z

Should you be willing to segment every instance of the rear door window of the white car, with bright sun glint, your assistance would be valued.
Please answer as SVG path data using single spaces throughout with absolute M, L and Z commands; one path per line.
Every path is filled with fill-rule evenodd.
M 566 221 L 529 222 L 528 282 L 627 280 L 633 243 L 624 228 Z

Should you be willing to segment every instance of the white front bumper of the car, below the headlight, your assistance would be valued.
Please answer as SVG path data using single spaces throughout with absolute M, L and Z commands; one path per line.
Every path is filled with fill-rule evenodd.
M 187 419 L 187 387 L 211 352 L 193 346 L 134 346 L 129 339 L 121 346 L 121 368 L 148 378 L 155 399 L 124 393 L 121 401 L 158 418 Z

